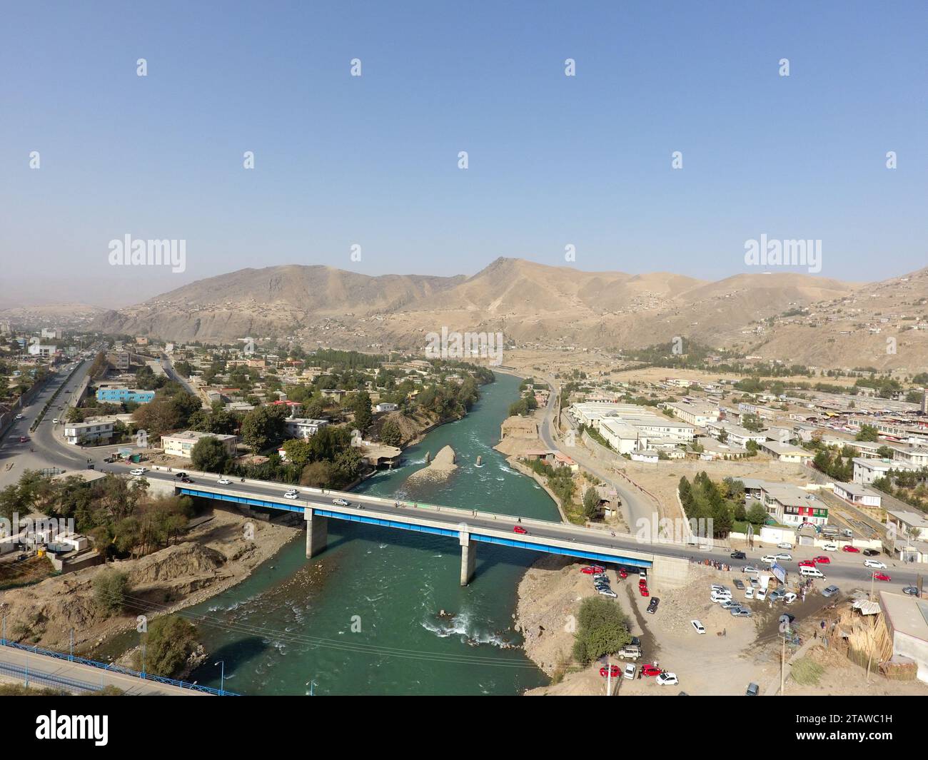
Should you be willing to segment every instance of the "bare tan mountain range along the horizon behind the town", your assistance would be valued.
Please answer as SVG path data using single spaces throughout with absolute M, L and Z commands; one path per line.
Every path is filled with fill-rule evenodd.
M 917 328 L 928 321 L 928 305 L 919 303 L 928 304 L 928 269 L 866 285 L 792 272 L 708 282 L 499 258 L 472 277 L 371 277 L 296 264 L 242 269 L 108 312 L 95 326 L 174 341 L 274 336 L 307 347 L 378 349 L 420 347 L 442 328 L 605 349 L 681 336 L 823 367 L 895 367 L 903 357 L 886 353 L 883 333 L 896 329 L 908 364 L 928 358 L 928 330 Z

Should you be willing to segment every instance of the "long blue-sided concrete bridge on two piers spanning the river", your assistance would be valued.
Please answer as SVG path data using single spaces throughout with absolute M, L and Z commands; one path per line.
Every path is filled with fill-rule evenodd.
M 586 528 L 477 509 L 397 502 L 380 496 L 269 481 L 230 478 L 231 483 L 221 484 L 218 481 L 224 476 L 216 473 L 187 470 L 187 474 L 193 483 L 181 483 L 176 477 L 176 471 L 159 467 L 148 470 L 144 477 L 153 491 L 161 493 L 200 496 L 247 507 L 302 513 L 306 521 L 307 558 L 315 557 L 327 547 L 329 520 L 343 520 L 456 539 L 461 549 L 461 586 L 467 586 L 473 577 L 477 546 L 480 544 L 497 544 L 644 568 L 652 574 L 663 576 L 662 579 L 669 585 L 684 580 L 688 573 L 688 560 L 678 556 L 688 547 L 642 543 L 637 536 L 613 535 L 601 528 Z M 290 488 L 299 493 L 298 498 L 284 497 L 284 492 Z M 336 500 L 344 500 L 348 506 L 337 504 Z M 517 528 L 524 533 L 517 532 Z M 689 553 L 693 552 L 694 549 L 689 547 Z

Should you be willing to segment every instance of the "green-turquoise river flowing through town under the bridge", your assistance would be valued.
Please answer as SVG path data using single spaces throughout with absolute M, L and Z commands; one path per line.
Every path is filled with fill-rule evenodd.
M 496 373 L 464 419 L 404 452 L 402 466 L 355 490 L 558 520 L 550 497 L 492 446 L 520 380 Z M 406 478 L 450 444 L 445 483 Z M 477 468 L 477 457 L 483 467 Z M 329 547 L 306 560 L 301 532 L 243 583 L 187 612 L 203 615 L 209 663 L 192 679 L 241 694 L 516 694 L 548 683 L 512 630 L 516 586 L 538 555 L 480 544 L 459 586 L 455 539 L 329 520 Z M 445 611 L 445 615 L 440 612 Z

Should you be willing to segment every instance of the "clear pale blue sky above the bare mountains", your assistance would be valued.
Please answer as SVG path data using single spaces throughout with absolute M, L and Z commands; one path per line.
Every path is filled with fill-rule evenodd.
M 567 244 L 717 279 L 762 233 L 821 239 L 822 277 L 903 274 L 928 264 L 926 32 L 923 2 L 7 3 L 0 301 Z M 187 240 L 186 271 L 110 266 L 126 234 Z

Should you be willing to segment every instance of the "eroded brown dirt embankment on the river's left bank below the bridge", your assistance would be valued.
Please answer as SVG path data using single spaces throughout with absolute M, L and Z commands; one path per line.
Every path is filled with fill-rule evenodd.
M 125 573 L 129 591 L 125 612 L 108 616 L 94 597 L 94 577 L 104 567 L 85 568 L 48 578 L 35 586 L 0 593 L 6 637 L 50 649 L 68 646 L 71 629 L 79 651 L 149 618 L 197 604 L 234 586 L 298 533 L 297 527 L 214 511 L 182 543 L 137 560 L 108 567 Z M 82 646 L 84 645 L 84 646 Z

